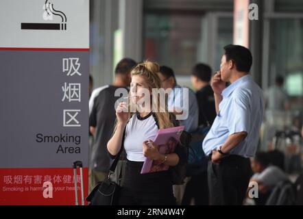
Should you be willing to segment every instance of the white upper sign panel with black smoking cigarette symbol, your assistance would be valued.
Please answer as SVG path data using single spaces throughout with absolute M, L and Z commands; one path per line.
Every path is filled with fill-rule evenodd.
M 89 47 L 87 0 L 1 0 L 1 5 L 0 47 Z

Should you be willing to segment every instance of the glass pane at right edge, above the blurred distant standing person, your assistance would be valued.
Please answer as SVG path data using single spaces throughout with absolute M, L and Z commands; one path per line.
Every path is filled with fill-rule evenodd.
M 289 96 L 303 96 L 303 19 L 274 19 L 270 35 L 269 85 L 282 75 Z

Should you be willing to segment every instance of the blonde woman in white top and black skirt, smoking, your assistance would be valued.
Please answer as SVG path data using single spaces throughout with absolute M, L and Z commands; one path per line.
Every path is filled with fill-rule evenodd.
M 153 88 L 161 88 L 158 71 L 159 66 L 154 62 L 143 62 L 133 68 L 130 101 L 136 103 L 136 112 L 123 112 L 123 109 L 125 111 L 127 108 L 126 103 L 119 103 L 117 107 L 117 125 L 112 138 L 108 141 L 108 151 L 112 157 L 119 153 L 125 130 L 123 148 L 128 159 L 119 205 L 175 205 L 172 178 L 168 170 L 141 175 L 145 157 L 165 162 L 169 166 L 176 166 L 180 162 L 180 155 L 177 152 L 167 156 L 162 155 L 151 141 L 156 137 L 158 129 L 174 126 L 171 114 L 167 110 L 160 112 L 160 104 L 157 110 L 153 107 L 157 112 L 148 109 L 140 110 L 137 105 L 144 98 L 141 90 L 148 89 L 151 95 Z M 155 100 L 151 97 L 151 104 Z M 155 119 L 158 120 L 158 125 Z M 151 146 L 147 146 L 149 143 L 147 140 Z

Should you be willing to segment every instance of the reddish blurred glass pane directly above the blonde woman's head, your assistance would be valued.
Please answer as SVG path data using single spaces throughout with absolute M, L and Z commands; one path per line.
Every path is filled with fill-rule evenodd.
M 145 14 L 144 59 L 190 75 L 199 60 L 204 17 L 191 14 Z

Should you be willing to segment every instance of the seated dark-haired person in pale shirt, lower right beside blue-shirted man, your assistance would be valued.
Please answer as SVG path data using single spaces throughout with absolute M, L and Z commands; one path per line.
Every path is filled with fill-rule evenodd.
M 250 181 L 258 183 L 258 198 L 254 198 L 256 205 L 265 205 L 271 190 L 280 181 L 288 180 L 287 175 L 278 166 L 271 165 L 270 159 L 269 153 L 259 152 L 251 161 L 254 175 Z

